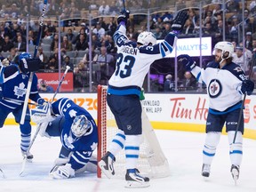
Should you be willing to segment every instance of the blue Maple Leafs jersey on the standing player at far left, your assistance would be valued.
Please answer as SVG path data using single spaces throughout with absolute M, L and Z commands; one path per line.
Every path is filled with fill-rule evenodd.
M 20 73 L 18 65 L 12 64 L 7 67 L 0 66 L 0 84 L 2 96 L 11 100 L 0 99 L 0 104 L 7 108 L 17 108 L 25 100 L 28 78 L 30 74 Z M 37 91 L 37 76 L 34 73 L 29 99 L 37 102 L 40 96 Z M 13 101 L 13 100 L 20 100 Z

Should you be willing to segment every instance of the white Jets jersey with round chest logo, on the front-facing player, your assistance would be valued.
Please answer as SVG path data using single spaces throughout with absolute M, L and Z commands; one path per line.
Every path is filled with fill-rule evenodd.
M 240 90 L 245 75 L 235 63 L 219 68 L 219 63 L 210 62 L 206 68 L 196 66 L 191 72 L 200 83 L 207 85 L 210 109 L 225 111 L 242 100 L 243 93 Z

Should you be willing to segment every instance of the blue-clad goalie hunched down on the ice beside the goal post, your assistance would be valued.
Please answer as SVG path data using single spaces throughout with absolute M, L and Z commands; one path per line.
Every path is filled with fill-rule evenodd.
M 46 111 L 44 108 L 33 109 L 32 120 L 40 125 L 41 136 L 60 137 L 62 144 L 50 175 L 54 179 L 68 179 L 84 171 L 97 172 L 92 152 L 97 148 L 98 129 L 89 112 L 67 98 L 53 102 Z

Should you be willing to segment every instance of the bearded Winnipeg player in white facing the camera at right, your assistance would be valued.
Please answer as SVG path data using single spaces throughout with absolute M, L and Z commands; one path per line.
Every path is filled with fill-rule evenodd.
M 178 59 L 186 70 L 192 72 L 200 83 L 207 85 L 207 93 L 210 100 L 210 108 L 206 122 L 206 139 L 203 149 L 202 175 L 210 176 L 210 168 L 217 145 L 220 141 L 220 132 L 226 125 L 229 154 L 231 160 L 231 174 L 236 181 L 239 177 L 239 167 L 243 155 L 244 116 L 238 124 L 239 113 L 242 108 L 243 94 L 251 95 L 254 84 L 245 78 L 240 66 L 232 62 L 234 46 L 229 42 L 215 44 L 215 60 L 205 68 L 196 66 L 196 62 L 188 55 L 180 55 Z M 243 107 L 244 108 L 244 107 Z M 233 144 L 236 127 L 238 132 L 236 142 Z

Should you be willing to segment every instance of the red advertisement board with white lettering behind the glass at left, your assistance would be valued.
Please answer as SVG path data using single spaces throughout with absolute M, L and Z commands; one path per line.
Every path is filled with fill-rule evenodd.
M 63 73 L 60 73 L 60 79 L 59 73 L 36 73 L 36 75 L 38 80 L 44 79 L 44 81 L 46 81 L 48 85 L 51 85 L 54 91 L 56 91 Z M 73 73 L 68 73 L 60 86 L 60 92 L 73 92 L 73 87 Z

